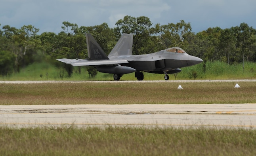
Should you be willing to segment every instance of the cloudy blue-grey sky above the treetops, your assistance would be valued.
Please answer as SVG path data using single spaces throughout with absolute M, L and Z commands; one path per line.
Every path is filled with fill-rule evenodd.
M 184 20 L 192 32 L 247 23 L 256 29 L 256 0 L 1 0 L 0 29 L 32 25 L 42 32 L 62 31 L 63 21 L 78 27 L 107 23 L 124 16 L 149 17 L 154 27 Z

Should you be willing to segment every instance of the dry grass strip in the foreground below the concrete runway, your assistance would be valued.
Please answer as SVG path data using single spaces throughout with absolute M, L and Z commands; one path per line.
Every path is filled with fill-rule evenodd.
M 0 155 L 256 155 L 256 130 L 0 127 Z

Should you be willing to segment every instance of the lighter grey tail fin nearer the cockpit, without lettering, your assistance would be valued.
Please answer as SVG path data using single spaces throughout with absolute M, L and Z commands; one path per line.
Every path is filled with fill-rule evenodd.
M 109 56 L 132 55 L 133 34 L 122 34 Z

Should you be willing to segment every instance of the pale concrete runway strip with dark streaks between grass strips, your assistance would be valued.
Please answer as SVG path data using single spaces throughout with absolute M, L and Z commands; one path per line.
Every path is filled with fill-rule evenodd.
M 256 104 L 0 106 L 0 126 L 72 125 L 256 129 Z

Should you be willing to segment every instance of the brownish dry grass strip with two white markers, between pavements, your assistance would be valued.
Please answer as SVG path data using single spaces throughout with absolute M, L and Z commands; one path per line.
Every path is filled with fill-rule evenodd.
M 177 89 L 178 86 L 182 90 Z M 0 105 L 256 103 L 256 83 L 0 84 Z

